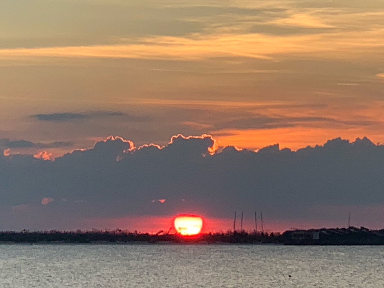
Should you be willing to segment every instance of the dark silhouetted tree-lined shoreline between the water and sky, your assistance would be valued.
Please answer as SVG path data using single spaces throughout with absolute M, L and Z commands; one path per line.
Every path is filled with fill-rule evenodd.
M 0 244 L 115 244 L 115 245 L 183 245 L 183 244 L 249 244 L 249 245 L 384 245 L 384 229 L 361 227 L 289 230 L 280 233 L 226 232 L 195 236 L 149 234 L 122 230 L 0 232 Z

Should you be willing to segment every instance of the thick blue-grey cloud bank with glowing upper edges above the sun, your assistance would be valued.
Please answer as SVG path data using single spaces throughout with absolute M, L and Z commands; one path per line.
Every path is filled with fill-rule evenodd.
M 328 221 L 348 213 L 343 207 L 384 203 L 384 146 L 367 138 L 338 138 L 296 152 L 276 144 L 258 152 L 225 147 L 210 155 L 212 146 L 210 136 L 173 137 L 161 149 L 109 137 L 55 161 L 0 156 L 0 205 L 50 209 L 64 222 L 180 212 L 232 217 L 234 210 L 255 209 L 270 221 Z M 52 201 L 41 205 L 47 197 Z M 0 226 L 6 223 L 3 216 Z

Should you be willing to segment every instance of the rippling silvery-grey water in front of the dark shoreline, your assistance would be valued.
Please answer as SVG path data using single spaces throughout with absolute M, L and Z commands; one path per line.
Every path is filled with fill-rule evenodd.
M 384 247 L 0 245 L 0 287 L 377 288 Z

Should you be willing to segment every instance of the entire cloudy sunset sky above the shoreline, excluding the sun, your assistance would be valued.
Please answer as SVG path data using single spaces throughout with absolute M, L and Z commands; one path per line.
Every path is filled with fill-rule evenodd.
M 383 53 L 381 0 L 2 1 L 0 230 L 382 227 Z

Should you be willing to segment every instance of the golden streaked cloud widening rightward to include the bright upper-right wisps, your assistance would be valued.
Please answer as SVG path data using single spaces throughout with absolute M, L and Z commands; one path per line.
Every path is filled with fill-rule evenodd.
M 217 58 L 255 58 L 283 60 L 302 58 L 353 59 L 366 57 L 366 53 L 381 53 L 384 30 L 376 25 L 383 13 L 350 13 L 348 11 L 313 10 L 266 19 L 237 15 L 232 19 L 218 18 L 218 25 L 210 25 L 197 33 L 185 35 L 121 36 L 114 43 L 104 45 L 57 45 L 38 48 L 0 49 L 1 60 L 38 60 L 39 58 L 116 58 L 152 59 L 170 61 L 202 61 Z M 236 20 L 237 26 L 233 27 Z M 228 24 L 229 23 L 229 24 Z M 350 23 L 356 23 L 351 26 Z M 273 25 L 295 27 L 290 34 L 277 33 Z M 268 26 L 272 26 L 269 31 Z M 334 27 L 334 28 L 332 28 Z M 312 29 L 298 33 L 297 29 Z M 317 31 L 321 29 L 321 31 Z M 280 29 L 281 30 L 281 29 Z M 208 31 L 208 32 L 207 32 Z M 295 33 L 296 32 L 296 33 Z M 299 31 L 300 32 L 300 31 Z M 100 42 L 98 42 L 100 43 Z M 353 51 L 345 53 L 345 51 Z M 288 56 L 284 56 L 288 55 Z M 18 61 L 15 61 L 18 63 Z

